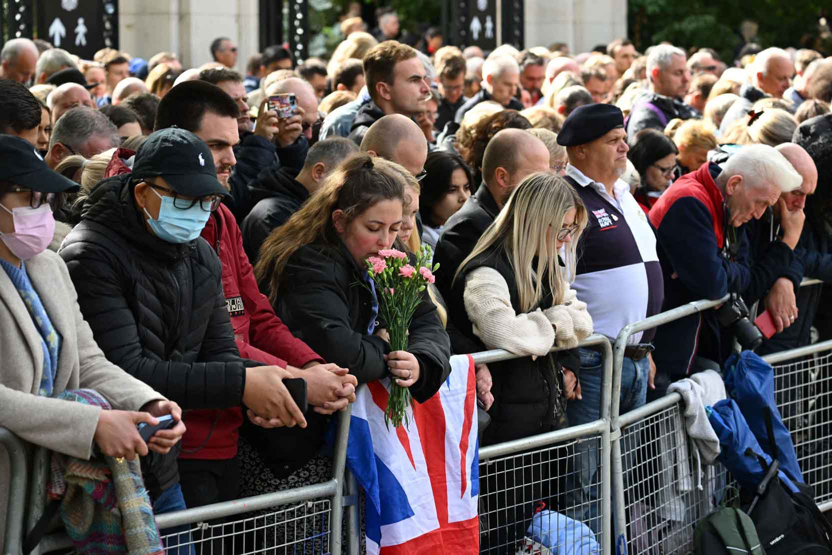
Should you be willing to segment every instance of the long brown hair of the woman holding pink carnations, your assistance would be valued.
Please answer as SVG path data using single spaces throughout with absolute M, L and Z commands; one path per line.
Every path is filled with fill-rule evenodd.
M 351 222 L 379 201 L 401 201 L 406 206 L 403 173 L 407 171 L 399 164 L 365 152 L 356 152 L 341 162 L 304 206 L 260 246 L 255 277 L 260 290 L 269 290 L 272 304 L 277 299 L 280 275 L 295 251 L 317 241 L 337 245 L 334 211 L 344 211 Z

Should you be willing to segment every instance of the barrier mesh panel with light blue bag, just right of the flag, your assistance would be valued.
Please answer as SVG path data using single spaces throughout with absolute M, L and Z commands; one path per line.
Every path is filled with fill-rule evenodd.
M 534 542 L 552 553 L 602 545 L 601 461 L 600 436 L 481 461 L 480 553 L 540 553 Z M 538 529 L 529 533 L 532 518 Z

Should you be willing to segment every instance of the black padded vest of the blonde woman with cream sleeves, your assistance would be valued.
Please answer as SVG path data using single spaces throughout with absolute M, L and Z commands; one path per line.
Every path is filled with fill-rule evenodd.
M 480 350 L 499 345 L 484 345 L 473 333 L 473 324 L 465 311 L 463 292 L 468 273 L 483 267 L 493 268 L 503 275 L 511 295 L 512 308 L 517 314 L 524 312 L 520 308 L 514 270 L 505 253 L 490 250 L 465 265 L 459 279 L 453 284 L 448 311 L 462 315 L 465 322 L 460 324 L 460 333 L 482 345 Z M 545 285 L 547 280 L 543 280 L 543 284 L 543 300 L 537 307 L 540 310 L 552 307 L 552 292 Z M 460 320 L 457 319 L 457 322 Z M 526 357 L 488 364 L 493 379 L 491 392 L 494 403 L 488 409 L 491 424 L 488 424 L 483 433 L 483 445 L 499 444 L 564 427 L 567 421 L 566 398 L 560 393 L 564 390 L 562 366 L 572 369 L 577 375 L 581 366 L 577 349 L 559 351 L 534 360 Z

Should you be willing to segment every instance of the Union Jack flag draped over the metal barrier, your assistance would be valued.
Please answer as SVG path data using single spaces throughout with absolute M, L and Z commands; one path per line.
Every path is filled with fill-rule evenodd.
M 347 465 L 366 493 L 367 553 L 479 552 L 477 384 L 473 359 L 450 359 L 437 394 L 408 409 L 409 428 L 384 424 L 389 379 L 359 388 Z

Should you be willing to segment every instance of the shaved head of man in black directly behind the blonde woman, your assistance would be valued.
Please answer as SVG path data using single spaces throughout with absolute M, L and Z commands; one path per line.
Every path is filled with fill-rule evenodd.
M 483 181 L 498 206 L 526 176 L 549 170 L 549 150 L 528 131 L 503 129 L 488 141 L 483 154 Z

